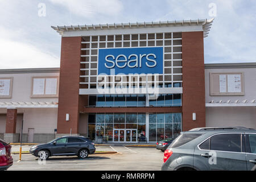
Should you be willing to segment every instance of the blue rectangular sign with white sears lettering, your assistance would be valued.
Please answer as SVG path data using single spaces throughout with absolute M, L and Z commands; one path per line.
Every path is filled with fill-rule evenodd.
M 98 51 L 98 75 L 163 74 L 163 47 L 110 48 Z

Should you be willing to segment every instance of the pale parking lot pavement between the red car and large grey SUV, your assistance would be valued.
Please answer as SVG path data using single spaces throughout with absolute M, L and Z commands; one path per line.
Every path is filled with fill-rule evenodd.
M 115 154 L 93 154 L 87 159 L 76 156 L 52 156 L 45 163 L 30 154 L 12 155 L 14 164 L 9 170 L 160 170 L 163 152 L 150 147 L 96 146 L 96 151 L 116 151 Z

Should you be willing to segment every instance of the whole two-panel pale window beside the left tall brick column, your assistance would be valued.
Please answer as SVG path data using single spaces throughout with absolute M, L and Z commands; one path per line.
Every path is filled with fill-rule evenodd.
M 57 97 L 58 80 L 57 77 L 33 77 L 31 97 Z

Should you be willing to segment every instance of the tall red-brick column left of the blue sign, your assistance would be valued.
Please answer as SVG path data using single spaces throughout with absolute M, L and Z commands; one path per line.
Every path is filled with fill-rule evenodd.
M 61 39 L 57 134 L 78 133 L 81 37 Z M 69 114 L 69 121 L 66 121 Z

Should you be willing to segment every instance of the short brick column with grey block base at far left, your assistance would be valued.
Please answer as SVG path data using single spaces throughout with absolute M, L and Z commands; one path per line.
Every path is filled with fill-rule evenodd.
M 7 109 L 6 129 L 3 139 L 6 142 L 19 142 L 19 134 L 16 134 L 17 109 Z

